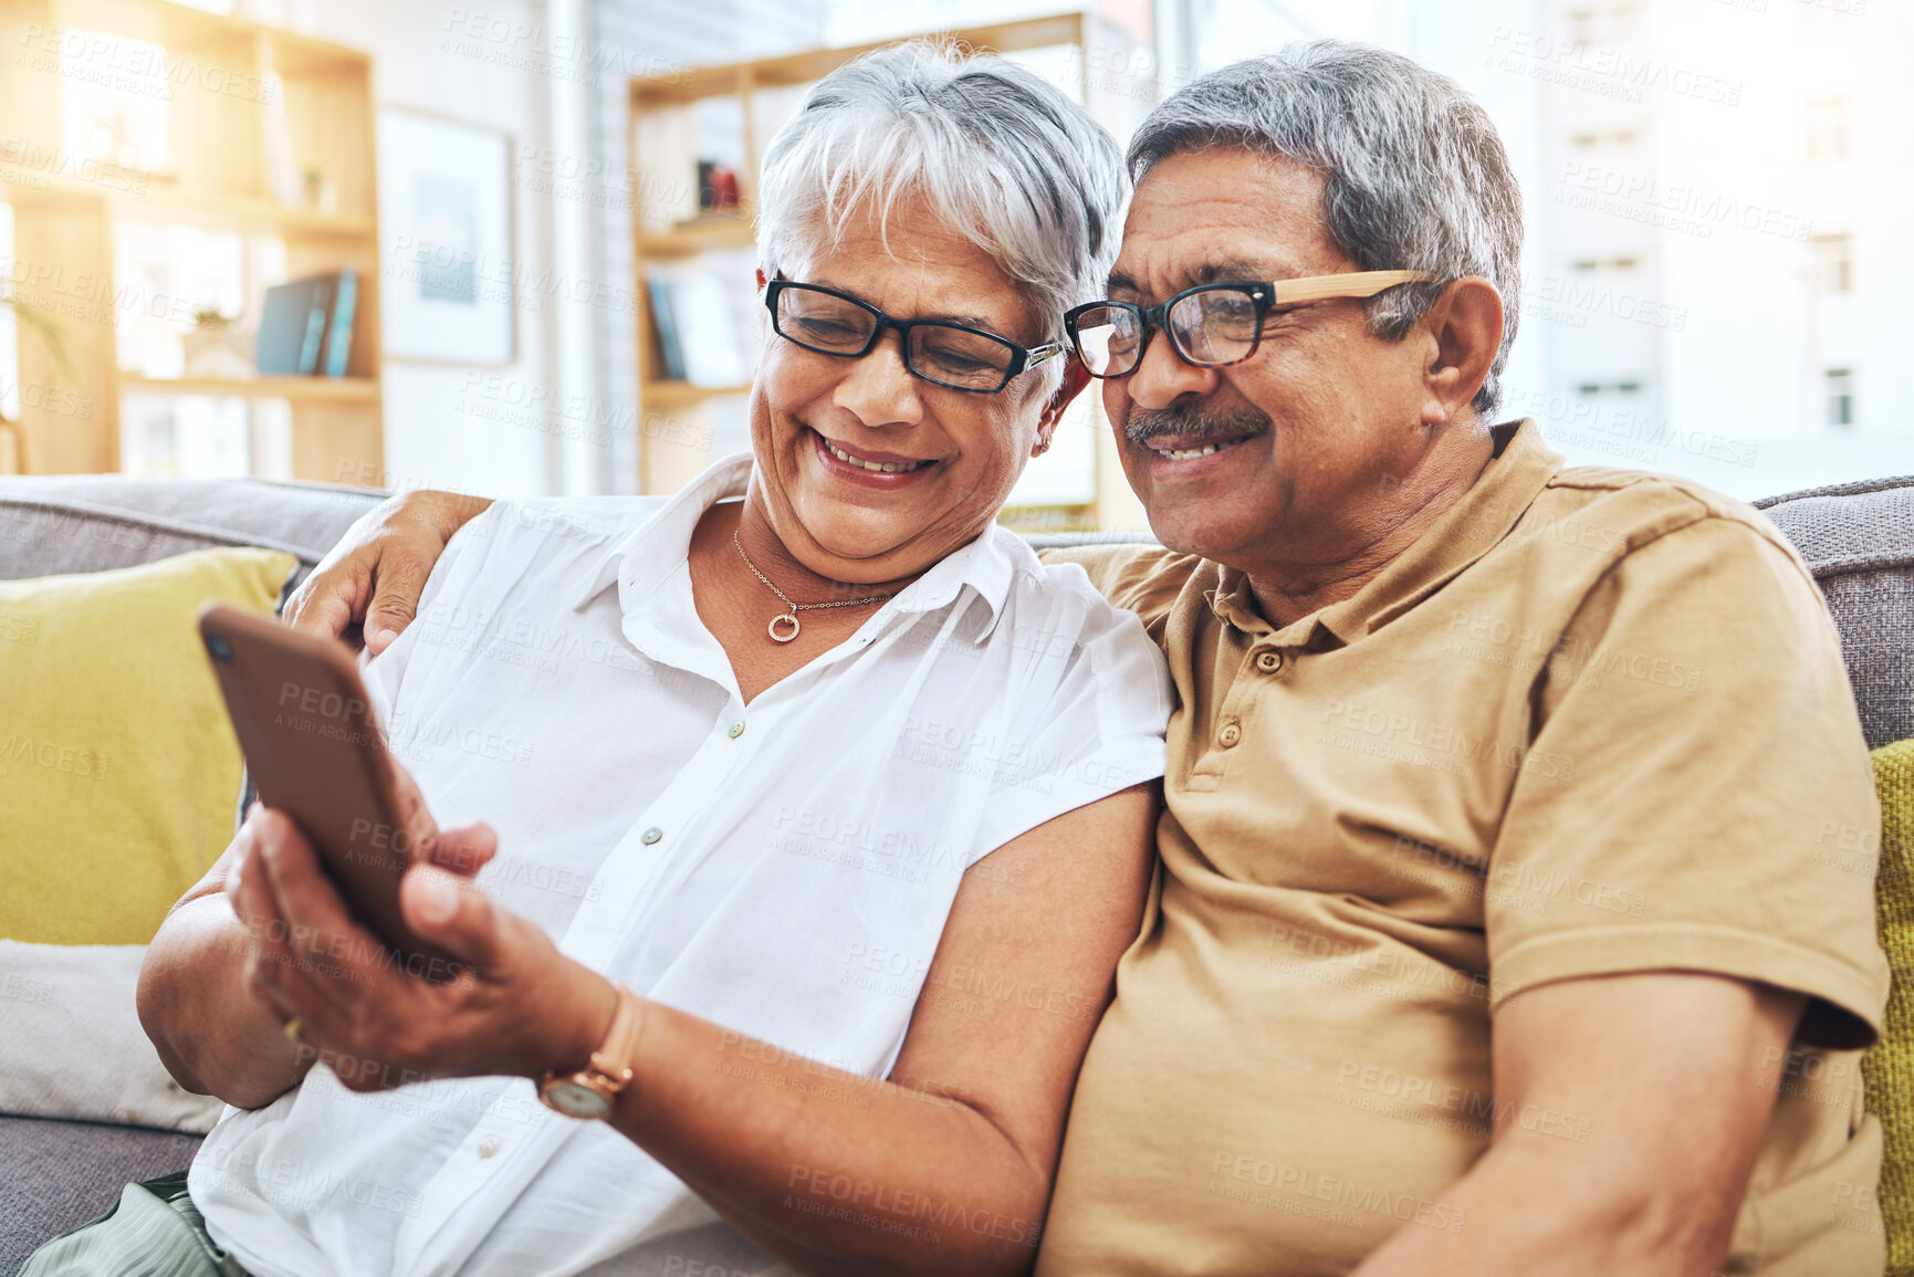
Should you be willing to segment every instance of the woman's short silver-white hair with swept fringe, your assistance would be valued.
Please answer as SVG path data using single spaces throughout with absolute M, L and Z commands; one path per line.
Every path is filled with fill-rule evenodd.
M 819 232 L 840 241 L 867 201 L 888 216 L 921 195 L 1022 285 L 1043 339 L 1062 341 L 1064 310 L 1102 293 L 1127 190 L 1116 140 L 1041 75 L 909 40 L 827 75 L 771 140 L 758 264 L 773 276 Z

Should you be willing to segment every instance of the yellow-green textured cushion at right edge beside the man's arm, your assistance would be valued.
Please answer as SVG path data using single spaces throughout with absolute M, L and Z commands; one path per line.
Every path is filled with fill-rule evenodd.
M 1887 1271 L 1914 1273 L 1914 739 L 1874 751 L 1874 787 L 1881 796 L 1881 865 L 1874 881 L 1874 915 L 1881 948 L 1895 971 L 1887 1024 L 1860 1059 L 1868 1110 L 1881 1118 L 1881 1221 L 1887 1225 Z

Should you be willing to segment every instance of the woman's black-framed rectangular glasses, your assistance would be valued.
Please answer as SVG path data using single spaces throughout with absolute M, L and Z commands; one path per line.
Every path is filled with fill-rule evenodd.
M 974 394 L 995 394 L 1011 377 L 1068 350 L 1060 341 L 1026 350 L 997 333 L 944 320 L 892 320 L 871 302 L 821 283 L 771 280 L 764 285 L 764 304 L 779 337 L 846 360 L 869 354 L 884 329 L 894 327 L 905 368 L 924 381 Z

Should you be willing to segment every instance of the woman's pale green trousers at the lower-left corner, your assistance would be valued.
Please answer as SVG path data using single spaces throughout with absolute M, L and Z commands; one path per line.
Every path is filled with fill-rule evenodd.
M 182 1170 L 128 1183 L 119 1206 L 34 1250 L 19 1277 L 247 1277 L 247 1271 L 207 1235 Z

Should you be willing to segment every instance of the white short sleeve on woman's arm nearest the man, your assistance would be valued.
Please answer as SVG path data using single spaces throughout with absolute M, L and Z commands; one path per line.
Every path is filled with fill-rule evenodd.
M 1005 743 L 988 751 L 995 758 L 974 860 L 1064 812 L 1164 775 L 1169 674 L 1162 651 L 1133 613 L 1112 609 L 1081 580 L 1062 592 L 1055 607 L 1076 618 L 1076 638 L 1057 638 L 1055 613 L 1041 626 L 1026 618 L 1026 632 L 1047 639 L 1020 662 L 1024 687 L 1009 689 Z

